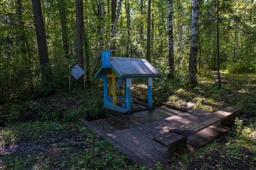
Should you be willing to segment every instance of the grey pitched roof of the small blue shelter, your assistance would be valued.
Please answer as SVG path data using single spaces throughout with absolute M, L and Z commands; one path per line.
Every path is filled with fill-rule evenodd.
M 110 57 L 110 68 L 119 79 L 136 77 L 161 77 L 161 73 L 145 59 Z M 95 78 L 100 74 L 108 74 L 110 69 L 100 67 Z

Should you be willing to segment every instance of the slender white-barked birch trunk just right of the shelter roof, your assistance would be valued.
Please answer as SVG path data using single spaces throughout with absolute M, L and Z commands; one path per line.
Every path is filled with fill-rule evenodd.
M 169 35 L 169 75 L 170 79 L 174 78 L 174 31 L 173 31 L 173 1 L 169 0 L 168 10 L 168 35 Z

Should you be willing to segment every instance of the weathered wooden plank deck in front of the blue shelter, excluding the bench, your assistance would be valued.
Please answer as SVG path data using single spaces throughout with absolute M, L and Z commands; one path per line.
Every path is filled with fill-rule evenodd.
M 178 128 L 191 122 L 200 123 L 206 116 L 213 113 L 193 110 L 186 113 L 171 108 L 155 108 L 153 111 L 141 111 L 131 115 L 115 115 L 105 119 L 87 122 L 104 140 L 108 140 L 120 152 L 127 154 L 129 159 L 140 166 L 155 168 L 157 162 L 163 163 L 174 154 L 167 147 L 153 140 L 171 128 Z M 206 145 L 227 128 L 220 123 L 197 132 L 188 137 L 188 149 Z

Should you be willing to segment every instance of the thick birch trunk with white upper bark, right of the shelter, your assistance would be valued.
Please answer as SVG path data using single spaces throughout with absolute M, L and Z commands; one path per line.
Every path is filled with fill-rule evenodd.
M 198 12 L 199 4 L 198 0 L 192 1 L 192 24 L 191 24 L 191 53 L 189 57 L 188 65 L 188 86 L 194 86 L 197 84 L 196 80 L 196 57 L 198 52 Z

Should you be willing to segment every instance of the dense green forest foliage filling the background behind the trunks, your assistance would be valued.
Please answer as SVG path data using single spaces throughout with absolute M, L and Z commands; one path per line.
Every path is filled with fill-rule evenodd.
M 175 77 L 188 75 L 192 1 L 171 1 L 174 45 L 174 64 L 171 66 L 167 0 L 120 1 L 119 14 L 117 0 L 39 1 L 47 45 L 47 51 L 44 52 L 49 60 L 44 64 L 38 54 L 35 24 L 38 20 L 35 20 L 33 13 L 33 3 L 36 2 L 0 2 L 1 103 L 26 94 L 48 95 L 53 91 L 68 91 L 68 65 L 78 63 L 78 48 L 82 49 L 82 60 L 87 66 L 87 85 L 92 86 L 95 84 L 93 74 L 100 65 L 100 52 L 108 50 L 110 42 L 112 56 L 150 59 L 164 77 L 168 76 L 171 66 L 174 67 L 171 70 Z M 78 2 L 82 2 L 82 8 L 79 9 L 82 10 L 80 22 L 83 23 L 79 25 L 82 31 L 81 47 L 76 31 Z M 198 1 L 198 8 L 197 73 L 206 75 L 210 70 L 217 69 L 217 21 L 220 69 L 232 73 L 256 72 L 256 2 L 219 0 L 217 3 L 217 0 L 207 0 Z M 117 15 L 116 31 L 112 36 Z M 48 68 L 46 74 L 50 76 L 44 77 L 42 68 Z

